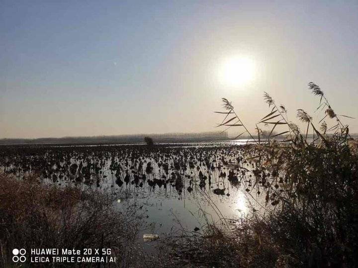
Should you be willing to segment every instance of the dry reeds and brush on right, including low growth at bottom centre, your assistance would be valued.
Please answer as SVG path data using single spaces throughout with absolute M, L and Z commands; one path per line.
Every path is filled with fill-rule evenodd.
M 320 97 L 318 108 L 326 109 L 315 126 L 304 110 L 297 117 L 304 132 L 288 121 L 287 110 L 265 92 L 272 108 L 256 124 L 256 144 L 244 151 L 244 163 L 231 167 L 241 181 L 250 181 L 246 191 L 264 196 L 265 215 L 253 213 L 239 225 L 220 229 L 209 225 L 201 234 L 183 233 L 163 241 L 170 246 L 169 264 L 188 267 L 357 267 L 358 266 L 358 154 L 357 140 L 348 125 L 332 109 L 323 91 L 314 83 L 309 89 Z M 223 98 L 225 118 L 218 126 L 242 127 L 230 101 Z M 260 124 L 272 126 L 262 140 Z M 273 134 L 279 126 L 287 130 Z M 312 130 L 313 139 L 308 139 Z M 319 129 L 319 130 L 318 130 Z M 240 134 L 240 135 L 242 135 Z M 239 135 L 239 136 L 240 136 Z M 286 135 L 285 140 L 277 137 Z M 238 136 L 238 137 L 239 137 Z M 253 138 L 254 139 L 254 138 Z M 255 140 L 255 139 L 254 139 Z M 259 202 L 259 198 L 257 200 Z M 165 249 L 165 248 L 164 248 Z

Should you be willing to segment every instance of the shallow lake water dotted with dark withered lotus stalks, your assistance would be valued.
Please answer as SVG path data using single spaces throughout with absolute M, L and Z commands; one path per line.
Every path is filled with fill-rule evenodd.
M 0 169 L 18 177 L 40 174 L 48 183 L 81 184 L 115 196 L 118 209 L 136 206 L 145 218 L 141 232 L 200 230 L 207 223 L 240 220 L 261 199 L 243 162 L 249 140 L 130 145 L 0 146 Z M 250 191 L 248 191 L 248 187 Z M 220 220 L 221 219 L 221 220 Z M 148 244 L 148 245 L 147 245 Z M 150 248 L 150 243 L 145 247 Z

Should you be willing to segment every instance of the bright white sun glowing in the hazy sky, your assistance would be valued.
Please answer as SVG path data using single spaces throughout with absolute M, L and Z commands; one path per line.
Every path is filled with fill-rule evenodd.
M 229 87 L 243 86 L 254 79 L 255 63 L 246 56 L 230 57 L 219 67 L 219 81 Z

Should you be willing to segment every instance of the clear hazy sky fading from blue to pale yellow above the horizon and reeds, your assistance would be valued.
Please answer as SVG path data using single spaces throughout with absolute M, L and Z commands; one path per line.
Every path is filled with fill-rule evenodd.
M 222 97 L 253 131 L 264 91 L 318 124 L 311 81 L 358 118 L 357 44 L 357 0 L 1 0 L 0 138 L 216 131 Z M 252 78 L 223 83 L 238 55 Z

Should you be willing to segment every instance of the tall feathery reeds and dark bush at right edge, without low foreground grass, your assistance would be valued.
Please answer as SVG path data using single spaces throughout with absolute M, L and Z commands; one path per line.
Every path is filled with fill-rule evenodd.
M 241 172 L 242 181 L 253 180 L 252 186 L 246 189 L 249 194 L 256 192 L 257 198 L 260 194 L 265 196 L 264 205 L 268 213 L 260 221 L 260 233 L 252 234 L 260 237 L 259 247 L 264 237 L 267 243 L 273 242 L 274 258 L 278 260 L 279 256 L 289 256 L 293 258 L 294 266 L 356 267 L 358 143 L 351 138 L 348 125 L 344 125 L 339 118 L 352 117 L 338 115 L 322 89 L 314 83 L 308 86 L 314 95 L 320 96 L 317 109 L 326 108 L 325 116 L 319 123 L 327 117 L 336 119 L 337 123 L 328 128 L 327 122 L 323 121 L 317 128 L 312 117 L 298 109 L 297 118 L 307 124 L 302 135 L 297 125 L 288 121 L 286 108 L 276 106 L 265 92 L 265 102 L 272 109 L 256 124 L 258 143 L 246 146 L 244 150 L 244 159 L 251 163 L 252 169 L 245 169 L 240 164 L 235 167 Z M 225 121 L 229 114 L 236 113 L 230 101 L 223 99 L 223 102 L 228 110 Z M 243 126 L 242 121 L 240 125 L 229 124 L 235 119 L 238 117 L 219 126 Z M 259 124 L 273 125 L 265 142 L 260 139 L 262 132 Z M 288 129 L 272 135 L 278 125 Z M 308 140 L 309 129 L 313 130 L 312 140 Z M 272 139 L 284 134 L 287 135 L 285 140 Z M 250 226 L 255 229 L 258 224 L 258 221 L 253 221 Z M 241 234 L 238 236 L 236 239 L 242 241 Z

